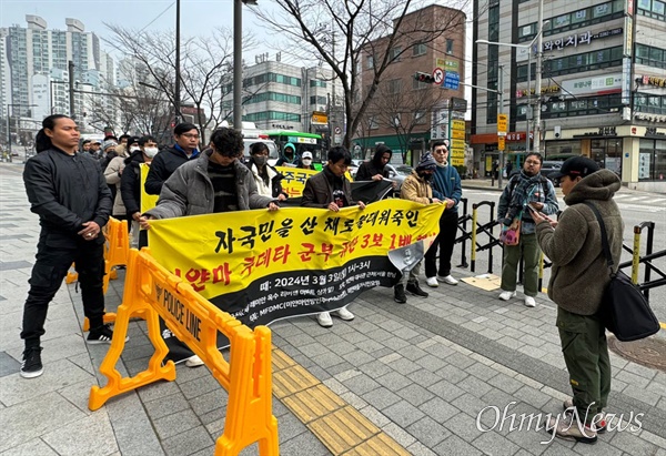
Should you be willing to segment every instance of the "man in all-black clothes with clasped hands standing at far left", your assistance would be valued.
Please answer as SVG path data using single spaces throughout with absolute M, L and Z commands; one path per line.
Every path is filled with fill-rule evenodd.
M 41 233 L 30 291 L 23 310 L 21 338 L 26 341 L 21 376 L 43 373 L 40 338 L 49 303 L 72 262 L 79 273 L 83 311 L 90 321 L 89 344 L 111 343 L 104 325 L 104 235 L 111 214 L 111 192 L 99 161 L 77 154 L 80 133 L 73 120 L 50 115 L 36 139 L 38 154 L 26 163 L 23 181 L 30 210 L 39 215 Z

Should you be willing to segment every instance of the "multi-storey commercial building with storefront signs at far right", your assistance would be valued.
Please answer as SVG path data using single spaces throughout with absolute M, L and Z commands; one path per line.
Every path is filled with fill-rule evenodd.
M 508 114 L 505 152 L 514 164 L 539 135 L 546 160 L 583 154 L 618 173 L 625 185 L 666 191 L 664 0 L 591 0 L 575 6 L 567 0 L 475 0 L 474 42 L 472 83 L 502 91 L 503 112 Z M 498 158 L 501 111 L 495 93 L 475 89 L 473 98 L 471 142 L 475 161 L 488 170 Z

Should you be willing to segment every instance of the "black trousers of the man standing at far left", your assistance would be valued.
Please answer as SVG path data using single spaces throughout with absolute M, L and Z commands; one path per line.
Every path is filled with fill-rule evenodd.
M 21 338 L 26 341 L 26 347 L 39 346 L 49 304 L 72 263 L 75 263 L 79 273 L 83 313 L 90 321 L 91 331 L 99 330 L 104 318 L 104 244 L 81 240 L 68 246 L 47 246 L 40 242 L 36 259 L 23 307 Z

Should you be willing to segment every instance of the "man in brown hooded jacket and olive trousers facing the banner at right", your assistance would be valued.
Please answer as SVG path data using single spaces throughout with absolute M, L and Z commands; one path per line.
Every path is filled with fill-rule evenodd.
M 606 432 L 603 409 L 610 392 L 610 359 L 599 315 L 610 277 L 599 223 L 586 203 L 602 215 L 617 265 L 624 222 L 613 195 L 620 189 L 620 181 L 586 156 L 568 159 L 558 174 L 568 209 L 558 222 L 538 210 L 533 211 L 532 219 L 538 243 L 553 262 L 548 297 L 557 304 L 557 328 L 574 397 L 563 404 L 568 412 L 565 417 L 551 418 L 546 430 L 559 438 L 594 444 L 597 433 Z

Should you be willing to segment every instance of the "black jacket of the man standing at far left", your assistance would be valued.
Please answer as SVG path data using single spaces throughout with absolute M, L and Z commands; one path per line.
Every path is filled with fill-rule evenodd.
M 100 163 L 88 154 L 47 149 L 28 160 L 23 182 L 30 210 L 42 226 L 40 241 L 49 246 L 75 245 L 83 223 L 92 221 L 102 227 L 109 221 L 111 191 Z M 99 235 L 97 242 L 104 242 L 104 236 Z

